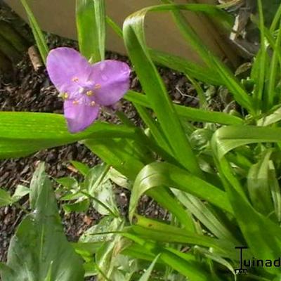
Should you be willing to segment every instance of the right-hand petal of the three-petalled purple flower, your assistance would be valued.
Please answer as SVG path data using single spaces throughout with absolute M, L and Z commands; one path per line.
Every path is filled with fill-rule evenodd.
M 117 60 L 103 60 L 92 66 L 90 79 L 95 83 L 95 100 L 100 105 L 113 105 L 130 87 L 131 69 Z

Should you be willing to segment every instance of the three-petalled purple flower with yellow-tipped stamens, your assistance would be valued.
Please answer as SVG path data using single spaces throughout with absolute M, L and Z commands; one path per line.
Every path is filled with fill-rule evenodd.
M 48 75 L 65 100 L 71 133 L 83 131 L 98 117 L 101 105 L 113 105 L 129 90 L 130 68 L 117 60 L 91 65 L 73 48 L 55 48 L 47 58 Z

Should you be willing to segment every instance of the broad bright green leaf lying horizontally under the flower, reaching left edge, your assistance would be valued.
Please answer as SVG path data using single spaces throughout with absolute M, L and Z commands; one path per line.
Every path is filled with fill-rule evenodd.
M 136 138 L 134 128 L 96 122 L 81 133 L 70 133 L 63 115 L 0 112 L 0 159 L 22 157 L 38 150 L 74 143 L 85 138 Z

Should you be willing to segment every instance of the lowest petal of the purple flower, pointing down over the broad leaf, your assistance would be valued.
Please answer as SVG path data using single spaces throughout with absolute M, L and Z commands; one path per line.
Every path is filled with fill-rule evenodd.
M 65 100 L 64 115 L 70 133 L 83 131 L 98 117 L 100 107 L 85 103 L 74 104 L 72 100 Z

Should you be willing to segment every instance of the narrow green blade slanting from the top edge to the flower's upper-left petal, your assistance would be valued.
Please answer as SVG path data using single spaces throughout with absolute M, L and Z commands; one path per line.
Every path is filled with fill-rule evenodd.
M 46 63 L 46 58 L 49 50 L 46 44 L 46 39 L 44 37 L 44 34 L 41 32 L 38 22 L 34 17 L 32 11 L 30 10 L 27 1 L 26 0 L 20 0 L 20 1 L 22 3 L 22 6 L 24 6 L 25 8 L 25 12 L 27 13 L 28 20 L 30 21 L 30 27 L 32 28 L 32 33 L 37 43 L 37 46 L 39 48 L 41 58 L 44 61 L 44 63 Z

